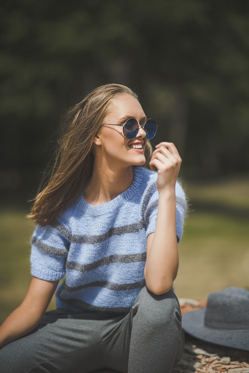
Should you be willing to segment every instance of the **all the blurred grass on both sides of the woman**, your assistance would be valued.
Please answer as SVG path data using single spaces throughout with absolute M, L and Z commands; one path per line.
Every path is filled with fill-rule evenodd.
M 206 299 L 210 292 L 228 286 L 249 287 L 248 181 L 184 185 L 192 211 L 179 244 L 180 266 L 174 283 L 178 297 Z M 27 292 L 33 230 L 25 211 L 0 211 L 0 322 Z

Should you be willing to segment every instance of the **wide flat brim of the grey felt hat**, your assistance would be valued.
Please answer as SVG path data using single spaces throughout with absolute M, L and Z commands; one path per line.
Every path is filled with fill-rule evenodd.
M 205 309 L 183 314 L 183 330 L 194 338 L 217 345 L 249 351 L 249 330 L 222 330 L 206 327 Z

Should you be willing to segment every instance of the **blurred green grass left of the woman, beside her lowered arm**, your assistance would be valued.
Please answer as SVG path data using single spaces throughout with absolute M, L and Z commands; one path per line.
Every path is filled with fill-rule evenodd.
M 0 323 L 22 302 L 31 280 L 30 239 L 34 223 L 20 210 L 0 211 Z M 55 308 L 55 300 L 50 304 Z

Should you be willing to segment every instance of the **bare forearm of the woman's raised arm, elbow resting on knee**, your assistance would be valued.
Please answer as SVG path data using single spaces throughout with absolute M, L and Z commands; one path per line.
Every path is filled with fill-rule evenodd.
M 144 278 L 155 294 L 164 294 L 172 287 L 178 269 L 178 248 L 175 230 L 175 191 L 159 196 L 155 233 L 147 251 Z

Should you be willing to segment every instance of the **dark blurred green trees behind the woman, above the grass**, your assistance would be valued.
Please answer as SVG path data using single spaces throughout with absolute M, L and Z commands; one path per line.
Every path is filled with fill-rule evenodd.
M 18 187 L 62 110 L 108 82 L 140 93 L 189 177 L 248 171 L 247 1 L 3 0 L 0 21 L 0 169 Z

